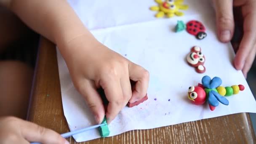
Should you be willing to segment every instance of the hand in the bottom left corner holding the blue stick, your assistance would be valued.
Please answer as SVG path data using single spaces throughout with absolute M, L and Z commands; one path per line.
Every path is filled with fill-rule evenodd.
M 48 128 L 16 118 L 0 117 L 0 144 L 69 144 L 61 135 Z

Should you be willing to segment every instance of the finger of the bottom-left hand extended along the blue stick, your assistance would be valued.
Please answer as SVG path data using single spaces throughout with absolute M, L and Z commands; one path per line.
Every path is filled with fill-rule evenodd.
M 21 136 L 29 142 L 42 144 L 69 144 L 59 133 L 25 120 L 19 121 Z

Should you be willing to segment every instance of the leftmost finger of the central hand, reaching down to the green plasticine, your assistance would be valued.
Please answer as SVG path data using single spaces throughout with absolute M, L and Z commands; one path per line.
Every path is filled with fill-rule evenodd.
M 97 123 L 101 123 L 105 116 L 105 109 L 101 96 L 96 91 L 96 86 L 91 80 L 80 83 L 80 93 L 84 96 L 86 104 L 93 112 Z

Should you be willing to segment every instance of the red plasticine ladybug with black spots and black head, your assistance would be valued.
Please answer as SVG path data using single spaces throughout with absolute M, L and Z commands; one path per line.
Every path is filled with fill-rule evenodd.
M 187 24 L 187 32 L 191 35 L 195 35 L 198 40 L 202 40 L 207 36 L 205 33 L 205 27 L 199 21 L 189 21 Z

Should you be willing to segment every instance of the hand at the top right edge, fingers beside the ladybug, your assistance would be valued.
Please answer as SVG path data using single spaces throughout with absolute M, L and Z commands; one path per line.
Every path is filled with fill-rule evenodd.
M 246 77 L 256 54 L 256 0 L 213 0 L 213 3 L 218 37 L 222 42 L 230 41 L 234 34 L 233 6 L 242 8 L 244 33 L 234 64 Z

